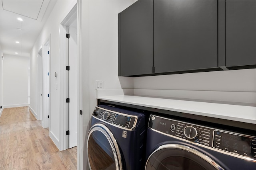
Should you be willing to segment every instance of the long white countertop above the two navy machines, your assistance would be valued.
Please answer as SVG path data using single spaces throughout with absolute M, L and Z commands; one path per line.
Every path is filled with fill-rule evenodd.
M 105 96 L 97 99 L 256 124 L 256 107 L 253 106 L 127 95 Z

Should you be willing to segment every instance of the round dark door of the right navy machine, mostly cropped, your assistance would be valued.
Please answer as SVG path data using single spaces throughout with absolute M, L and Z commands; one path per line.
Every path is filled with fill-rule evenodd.
M 148 158 L 145 170 L 224 170 L 214 160 L 185 145 L 162 145 Z

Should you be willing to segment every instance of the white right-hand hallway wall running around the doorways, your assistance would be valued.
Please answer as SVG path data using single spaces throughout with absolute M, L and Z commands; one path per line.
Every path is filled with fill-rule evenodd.
M 58 149 L 60 143 L 60 23 L 72 9 L 76 0 L 58 0 L 51 1 L 56 3 L 52 13 L 46 21 L 32 51 L 30 53 L 30 107 L 34 112 L 38 112 L 38 88 L 37 88 L 37 53 L 46 40 L 50 37 L 50 137 Z M 57 78 L 54 77 L 57 72 Z

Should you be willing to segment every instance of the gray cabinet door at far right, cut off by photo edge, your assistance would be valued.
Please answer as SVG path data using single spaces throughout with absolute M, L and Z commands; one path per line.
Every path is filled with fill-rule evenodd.
M 226 66 L 256 64 L 256 1 L 226 1 Z

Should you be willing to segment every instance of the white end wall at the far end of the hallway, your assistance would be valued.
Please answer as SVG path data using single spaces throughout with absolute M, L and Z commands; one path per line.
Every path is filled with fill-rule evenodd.
M 28 68 L 28 57 L 4 54 L 4 108 L 28 106 Z

